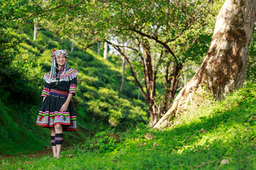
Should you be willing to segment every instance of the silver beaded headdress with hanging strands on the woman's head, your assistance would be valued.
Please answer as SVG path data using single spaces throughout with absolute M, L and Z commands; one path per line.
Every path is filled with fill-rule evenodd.
M 56 58 L 59 57 L 60 54 L 63 54 L 66 58 L 64 67 L 61 71 L 63 71 L 63 74 L 65 74 L 65 72 L 68 71 L 68 52 L 67 52 L 67 50 L 53 50 L 52 55 L 51 55 L 51 59 L 53 62 L 52 62 L 52 66 L 50 69 L 50 80 L 55 79 L 55 77 L 56 77 L 56 69 L 58 69 L 58 67 L 56 66 Z

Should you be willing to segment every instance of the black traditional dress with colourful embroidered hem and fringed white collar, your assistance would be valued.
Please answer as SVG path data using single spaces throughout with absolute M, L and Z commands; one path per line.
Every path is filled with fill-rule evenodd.
M 36 125 L 50 128 L 61 124 L 63 131 L 76 130 L 76 115 L 72 101 L 65 112 L 61 112 L 60 108 L 67 100 L 68 94 L 73 94 L 73 96 L 76 94 L 78 71 L 64 67 L 60 74 L 54 72 L 55 75 L 53 75 L 53 69 L 43 78 L 45 85 L 41 97 L 46 98 L 40 108 Z

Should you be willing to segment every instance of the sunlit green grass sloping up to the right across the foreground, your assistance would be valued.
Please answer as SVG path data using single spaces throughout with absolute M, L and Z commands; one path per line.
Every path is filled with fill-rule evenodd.
M 256 169 L 255 89 L 250 84 L 223 101 L 191 103 L 160 132 L 142 124 L 107 130 L 60 159 L 3 159 L 1 169 Z

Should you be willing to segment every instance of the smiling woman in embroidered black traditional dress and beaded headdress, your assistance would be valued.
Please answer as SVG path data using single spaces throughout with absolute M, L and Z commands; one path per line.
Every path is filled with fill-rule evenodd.
M 50 142 L 53 157 L 60 155 L 63 143 L 63 131 L 76 130 L 76 116 L 71 98 L 77 89 L 78 71 L 68 68 L 68 52 L 52 51 L 52 67 L 45 74 L 43 87 L 43 104 L 38 114 L 36 125 L 50 128 Z

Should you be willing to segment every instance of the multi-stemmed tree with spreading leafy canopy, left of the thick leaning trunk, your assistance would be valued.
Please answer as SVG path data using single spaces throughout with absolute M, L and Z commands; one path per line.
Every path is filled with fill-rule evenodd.
M 207 4 L 193 0 L 68 2 L 58 4 L 54 8 L 39 8 L 38 13 L 43 13 L 41 21 L 47 16 L 44 20 L 46 28 L 68 38 L 72 38 L 75 33 L 78 35 L 76 42 L 85 48 L 105 39 L 112 40 L 113 37 L 133 39 L 132 48 L 139 44 L 135 51 L 138 51 L 141 58 L 139 69 L 144 70 L 144 83 L 139 84 L 135 74 L 133 77 L 149 105 L 151 125 L 154 125 L 170 107 L 171 99 L 176 94 L 183 63 L 200 58 L 207 47 Z M 37 14 L 30 14 L 28 18 Z M 74 19 L 74 16 L 77 18 Z M 161 60 L 153 57 L 152 42 L 159 47 L 158 56 L 163 57 Z M 115 46 L 117 47 L 117 44 Z M 162 50 L 164 55 L 161 55 Z M 192 55 L 194 53 L 198 55 Z M 131 72 L 133 67 L 129 66 Z M 159 70 L 163 67 L 164 76 L 161 76 Z M 156 95 L 157 78 L 164 79 L 161 90 L 163 97 Z

